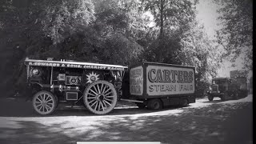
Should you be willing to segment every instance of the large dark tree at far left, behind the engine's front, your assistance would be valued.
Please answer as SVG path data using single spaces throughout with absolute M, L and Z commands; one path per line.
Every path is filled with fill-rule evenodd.
M 53 50 L 57 55 L 58 43 L 94 20 L 90 0 L 2 0 L 0 4 L 3 90 L 26 86 L 25 57 L 46 58 Z

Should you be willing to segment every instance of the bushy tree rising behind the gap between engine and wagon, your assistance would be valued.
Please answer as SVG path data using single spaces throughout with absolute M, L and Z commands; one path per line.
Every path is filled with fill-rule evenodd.
M 96 49 L 102 62 L 130 65 L 143 50 L 138 42 L 144 33 L 142 12 L 134 0 L 94 1 L 95 17 L 92 28 L 101 38 Z

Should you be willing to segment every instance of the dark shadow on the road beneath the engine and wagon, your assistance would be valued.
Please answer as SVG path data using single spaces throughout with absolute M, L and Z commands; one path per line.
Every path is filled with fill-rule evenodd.
M 18 99 L 0 99 L 0 117 L 59 117 L 59 116 L 98 116 L 91 114 L 86 108 L 65 108 L 65 105 L 59 105 L 53 114 L 42 116 L 33 110 L 31 102 L 26 102 L 23 98 Z M 168 106 L 160 111 L 178 109 L 178 106 Z M 125 115 L 125 114 L 150 114 L 156 110 L 138 109 L 133 104 L 119 103 L 110 114 L 107 115 Z

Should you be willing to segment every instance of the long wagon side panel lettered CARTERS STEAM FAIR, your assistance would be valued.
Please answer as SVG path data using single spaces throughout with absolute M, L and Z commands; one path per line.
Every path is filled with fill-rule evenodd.
M 146 65 L 145 98 L 194 97 L 194 67 Z

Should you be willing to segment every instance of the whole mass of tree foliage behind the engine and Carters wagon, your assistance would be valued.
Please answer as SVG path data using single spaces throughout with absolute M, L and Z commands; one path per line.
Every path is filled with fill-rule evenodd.
M 214 57 L 218 47 L 195 21 L 196 3 L 2 0 L 0 87 L 25 86 L 26 57 L 129 66 L 142 61 L 195 66 L 198 87 L 206 86 L 208 75 L 214 75 L 218 67 L 219 59 Z M 202 87 L 202 93 L 205 89 Z

